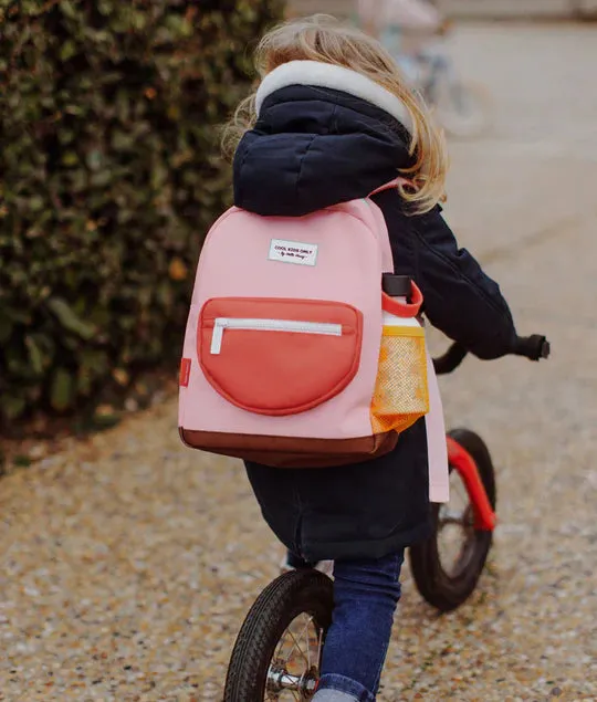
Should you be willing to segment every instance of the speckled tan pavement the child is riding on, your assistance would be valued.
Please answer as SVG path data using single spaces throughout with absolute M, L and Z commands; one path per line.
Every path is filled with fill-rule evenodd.
M 496 126 L 452 145 L 447 214 L 554 356 L 446 380 L 451 423 L 492 448 L 501 525 L 461 610 L 438 618 L 406 577 L 379 699 L 597 700 L 597 40 L 468 27 L 455 51 Z M 0 483 L 0 700 L 221 699 L 281 552 L 239 464 L 181 448 L 175 417 Z

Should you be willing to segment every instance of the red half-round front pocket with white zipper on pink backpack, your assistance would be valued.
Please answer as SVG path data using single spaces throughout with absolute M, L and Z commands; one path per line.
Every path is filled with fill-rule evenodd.
M 360 362 L 362 313 L 339 302 L 218 297 L 201 310 L 198 356 L 227 400 L 296 415 L 341 392 Z

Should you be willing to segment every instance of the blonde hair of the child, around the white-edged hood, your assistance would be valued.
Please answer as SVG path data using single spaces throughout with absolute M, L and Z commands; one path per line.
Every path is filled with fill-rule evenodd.
M 320 61 L 356 71 L 398 97 L 411 118 L 409 153 L 413 161 L 409 168 L 399 170 L 409 185 L 400 185 L 398 190 L 415 213 L 428 212 L 446 199 L 448 156 L 443 133 L 434 126 L 422 97 L 408 85 L 391 55 L 376 39 L 326 15 L 291 20 L 268 32 L 254 56 L 261 78 L 290 61 Z M 239 105 L 224 129 L 224 151 L 230 155 L 255 122 L 252 94 Z

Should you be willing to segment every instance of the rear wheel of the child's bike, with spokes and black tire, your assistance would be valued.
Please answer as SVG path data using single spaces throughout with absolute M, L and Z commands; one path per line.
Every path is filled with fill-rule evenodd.
M 273 580 L 241 627 L 223 702 L 311 700 L 333 607 L 332 580 L 317 570 L 293 570 Z

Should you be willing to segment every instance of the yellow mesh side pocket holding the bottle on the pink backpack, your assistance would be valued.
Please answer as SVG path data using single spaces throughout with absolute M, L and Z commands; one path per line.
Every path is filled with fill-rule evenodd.
M 404 431 L 428 411 L 423 329 L 384 327 L 371 401 L 374 433 Z

